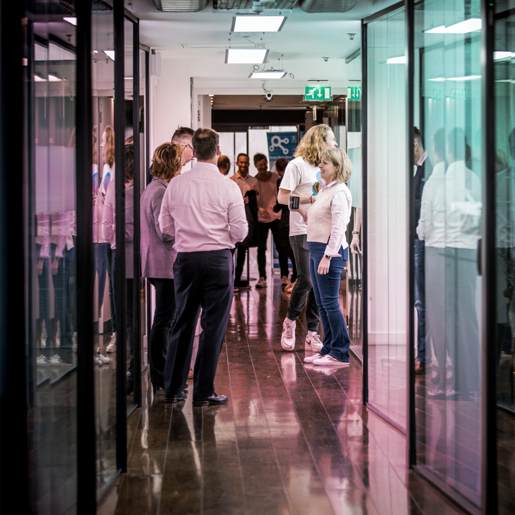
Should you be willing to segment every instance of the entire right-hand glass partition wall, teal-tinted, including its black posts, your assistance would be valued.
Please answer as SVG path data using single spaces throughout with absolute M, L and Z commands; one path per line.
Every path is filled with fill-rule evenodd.
M 514 12 L 363 20 L 364 400 L 473 515 L 515 510 Z

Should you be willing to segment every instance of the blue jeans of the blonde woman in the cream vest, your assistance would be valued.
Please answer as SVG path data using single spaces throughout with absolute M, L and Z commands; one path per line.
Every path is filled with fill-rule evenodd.
M 318 273 L 318 265 L 325 253 L 325 243 L 307 242 L 310 251 L 310 273 L 313 293 L 320 311 L 324 332 L 322 356 L 329 354 L 338 361 L 349 362 L 351 340 L 347 331 L 344 314 L 338 301 L 340 274 L 349 259 L 349 250 L 340 247 L 341 258 L 332 258 L 327 274 Z

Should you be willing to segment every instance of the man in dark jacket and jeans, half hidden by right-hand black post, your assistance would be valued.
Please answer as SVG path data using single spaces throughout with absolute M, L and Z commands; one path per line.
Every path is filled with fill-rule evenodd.
M 433 171 L 433 165 L 427 159 L 427 152 L 422 145 L 422 136 L 417 127 L 414 128 L 413 141 L 414 174 L 413 179 L 413 203 L 415 205 L 415 217 L 413 220 L 413 232 L 415 235 L 415 307 L 418 319 L 417 359 L 415 361 L 415 373 L 422 374 L 426 367 L 425 357 L 425 277 L 424 277 L 424 241 L 417 235 L 417 225 L 420 218 L 420 202 L 422 190 L 426 179 Z

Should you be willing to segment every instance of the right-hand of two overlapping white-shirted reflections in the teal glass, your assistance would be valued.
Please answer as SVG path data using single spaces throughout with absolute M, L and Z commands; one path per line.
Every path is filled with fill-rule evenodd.
M 445 205 L 445 348 L 453 363 L 446 390 L 444 356 L 438 359 L 440 384 L 429 392 L 434 399 L 468 397 L 479 391 L 479 330 L 475 309 L 477 238 L 481 215 L 481 183 L 467 168 L 467 141 L 463 129 L 447 136 L 449 167 L 444 177 Z M 439 321 L 441 323 L 441 320 Z

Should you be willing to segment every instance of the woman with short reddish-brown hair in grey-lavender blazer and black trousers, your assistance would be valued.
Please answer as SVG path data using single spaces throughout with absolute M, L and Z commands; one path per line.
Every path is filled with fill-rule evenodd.
M 168 336 L 177 315 L 174 293 L 173 264 L 177 252 L 173 250 L 173 236 L 159 229 L 159 213 L 166 187 L 179 175 L 184 163 L 184 149 L 177 143 L 163 143 L 154 152 L 152 180 L 140 201 L 141 212 L 141 268 L 142 277 L 156 288 L 156 311 L 149 338 L 150 380 L 154 393 L 164 389 L 163 371 Z

